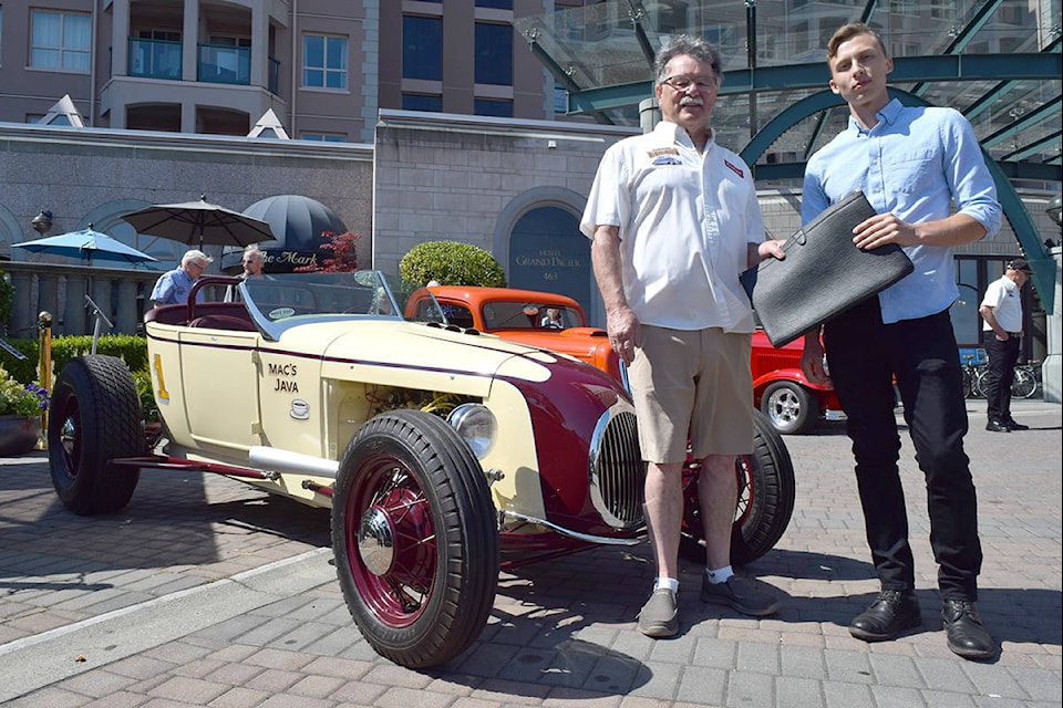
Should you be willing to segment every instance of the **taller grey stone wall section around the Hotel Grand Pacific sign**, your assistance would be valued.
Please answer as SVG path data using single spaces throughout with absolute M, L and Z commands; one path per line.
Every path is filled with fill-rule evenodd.
M 605 149 L 630 128 L 383 111 L 376 127 L 373 263 L 398 272 L 429 240 L 508 260 L 508 230 L 532 206 L 581 214 Z M 519 206 L 529 192 L 536 202 Z M 514 214 L 516 206 L 517 212 Z

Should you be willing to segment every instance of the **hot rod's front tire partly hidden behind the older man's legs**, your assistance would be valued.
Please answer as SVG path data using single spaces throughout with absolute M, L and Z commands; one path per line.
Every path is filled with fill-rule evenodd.
M 735 462 L 739 500 L 731 529 L 732 565 L 752 563 L 772 550 L 794 513 L 794 464 L 782 437 L 758 410 L 753 410 L 753 454 L 743 455 Z M 683 483 L 685 509 L 680 554 L 704 564 L 696 475 L 684 471 Z

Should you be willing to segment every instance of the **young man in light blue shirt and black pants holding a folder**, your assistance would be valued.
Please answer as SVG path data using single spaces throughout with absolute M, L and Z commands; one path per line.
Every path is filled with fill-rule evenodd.
M 908 519 L 898 473 L 900 437 L 894 378 L 927 482 L 930 544 L 938 563 L 948 645 L 968 659 L 995 655 L 974 604 L 982 562 L 974 483 L 963 450 L 968 430 L 962 371 L 949 306 L 958 296 L 952 248 L 1000 228 L 992 177 L 970 124 L 951 108 L 890 100 L 892 60 L 867 25 L 847 24 L 827 50 L 830 88 L 849 126 L 809 160 L 802 219 L 854 189 L 877 215 L 854 229 L 863 249 L 898 243 L 915 271 L 805 336 L 802 368 L 829 378 L 847 416 L 867 541 L 881 592 L 849 625 L 853 636 L 892 639 L 921 624 Z M 953 214 L 950 205 L 954 200 Z

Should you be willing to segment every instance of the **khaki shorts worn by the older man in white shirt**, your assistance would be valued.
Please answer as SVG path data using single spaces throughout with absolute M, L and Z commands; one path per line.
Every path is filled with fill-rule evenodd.
M 648 462 L 753 450 L 752 335 L 642 325 L 628 371 Z

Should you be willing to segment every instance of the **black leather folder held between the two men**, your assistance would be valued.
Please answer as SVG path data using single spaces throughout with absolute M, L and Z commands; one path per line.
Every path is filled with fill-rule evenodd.
M 767 258 L 742 273 L 753 309 L 774 346 L 886 290 L 912 271 L 896 243 L 861 250 L 853 229 L 875 216 L 863 191 L 837 201 L 783 244 L 786 258 Z

